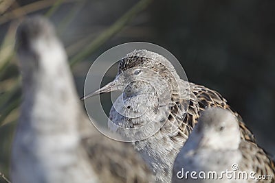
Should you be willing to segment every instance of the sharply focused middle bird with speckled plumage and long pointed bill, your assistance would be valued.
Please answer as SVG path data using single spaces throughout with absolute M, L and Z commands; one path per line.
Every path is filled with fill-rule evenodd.
M 158 182 L 171 181 L 175 157 L 201 111 L 209 106 L 231 110 L 219 93 L 181 80 L 164 56 L 144 49 L 128 53 L 120 60 L 115 80 L 83 99 L 113 90 L 123 93 L 110 110 L 109 127 L 134 141 Z M 254 142 L 239 114 L 234 115 L 240 138 Z

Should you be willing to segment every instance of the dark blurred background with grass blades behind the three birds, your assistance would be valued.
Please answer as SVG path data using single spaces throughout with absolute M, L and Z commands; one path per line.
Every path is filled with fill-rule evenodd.
M 8 177 L 21 99 L 14 32 L 24 16 L 33 14 L 56 25 L 79 96 L 89 66 L 101 53 L 124 42 L 152 42 L 174 54 L 190 82 L 228 99 L 259 145 L 274 156 L 274 10 L 271 0 L 0 0 L 0 172 Z

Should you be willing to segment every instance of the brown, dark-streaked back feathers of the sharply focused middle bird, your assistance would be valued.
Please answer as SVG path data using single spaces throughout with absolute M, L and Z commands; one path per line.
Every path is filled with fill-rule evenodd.
M 189 83 L 189 85 L 190 85 L 190 103 L 188 106 L 188 111 L 185 119 L 181 118 L 181 117 L 184 117 L 184 110 L 181 109 L 181 106 L 184 106 L 184 105 L 178 105 L 176 103 L 176 101 L 179 101 L 179 103 L 184 103 L 185 102 L 184 99 L 173 99 L 174 104 L 170 112 L 170 116 L 173 116 L 173 117 L 169 117 L 170 119 L 173 119 L 173 121 L 177 121 L 177 123 L 181 121 L 181 124 L 178 124 L 179 136 L 183 136 L 184 134 L 184 138 L 186 138 L 186 136 L 190 134 L 190 132 L 192 131 L 190 127 L 195 127 L 201 111 L 206 110 L 206 108 L 208 107 L 217 107 L 217 108 L 224 108 L 232 111 L 239 121 L 239 126 L 241 129 L 241 138 L 243 138 L 245 141 L 251 141 L 255 143 L 254 135 L 248 129 L 245 123 L 243 123 L 243 119 L 241 118 L 241 116 L 228 105 L 228 101 L 226 101 L 226 99 L 223 98 L 221 94 L 217 93 L 214 90 L 206 88 L 205 86 L 201 86 L 193 83 Z M 170 121 L 170 122 L 173 123 L 173 121 Z

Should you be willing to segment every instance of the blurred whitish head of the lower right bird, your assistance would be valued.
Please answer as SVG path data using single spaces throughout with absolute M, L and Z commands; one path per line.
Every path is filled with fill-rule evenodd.
M 241 132 L 236 117 L 229 110 L 208 108 L 199 117 L 195 134 L 200 137 L 199 146 L 212 149 L 237 149 Z

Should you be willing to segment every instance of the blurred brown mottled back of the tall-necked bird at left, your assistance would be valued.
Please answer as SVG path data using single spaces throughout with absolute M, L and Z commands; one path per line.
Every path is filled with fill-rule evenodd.
M 94 135 L 83 139 L 83 146 L 102 182 L 153 182 L 151 170 L 130 144 Z

